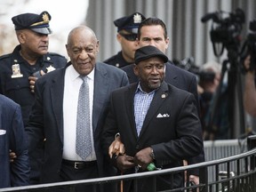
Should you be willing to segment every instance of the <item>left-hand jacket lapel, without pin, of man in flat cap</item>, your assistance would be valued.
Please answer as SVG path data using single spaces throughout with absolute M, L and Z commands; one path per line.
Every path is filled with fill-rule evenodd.
M 135 117 L 134 117 L 134 94 L 136 92 L 137 86 L 138 84 L 132 84 L 132 86 L 130 86 L 125 92 L 125 98 L 127 100 L 126 110 L 128 112 L 127 114 L 130 120 L 132 134 L 136 139 L 138 138 L 138 134 L 136 131 L 136 124 L 135 124 Z

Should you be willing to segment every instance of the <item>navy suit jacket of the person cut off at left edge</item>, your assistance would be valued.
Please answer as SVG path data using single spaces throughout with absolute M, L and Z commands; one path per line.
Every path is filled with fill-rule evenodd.
M 17 156 L 12 163 L 9 150 Z M 0 188 L 28 185 L 29 170 L 20 105 L 0 94 Z

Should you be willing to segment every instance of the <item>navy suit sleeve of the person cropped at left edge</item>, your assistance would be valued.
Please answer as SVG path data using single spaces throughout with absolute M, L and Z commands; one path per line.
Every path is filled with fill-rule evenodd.
M 28 142 L 22 122 L 20 107 L 15 109 L 12 118 L 12 134 L 10 149 L 14 151 L 17 158 L 11 163 L 11 185 L 12 187 L 26 186 L 29 182 Z

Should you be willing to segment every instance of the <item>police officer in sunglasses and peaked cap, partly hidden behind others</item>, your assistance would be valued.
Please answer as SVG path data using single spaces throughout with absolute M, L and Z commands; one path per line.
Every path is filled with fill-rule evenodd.
M 108 60 L 104 60 L 105 63 L 117 68 L 123 68 L 134 63 L 134 53 L 138 49 L 136 42 L 138 28 L 140 22 L 145 19 L 140 12 L 135 12 L 130 16 L 114 21 L 117 27 L 116 39 L 121 44 L 122 50 Z

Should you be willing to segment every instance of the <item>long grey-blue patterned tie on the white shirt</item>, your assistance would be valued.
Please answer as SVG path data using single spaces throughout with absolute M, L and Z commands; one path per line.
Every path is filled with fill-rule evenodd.
M 76 117 L 76 154 L 83 160 L 92 153 L 90 130 L 89 85 L 87 76 L 80 76 L 83 84 L 79 90 Z

